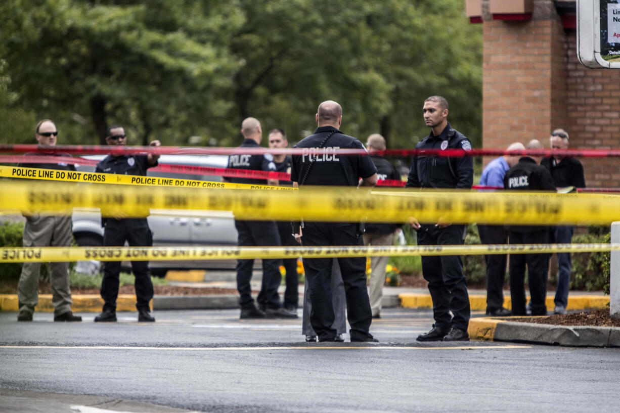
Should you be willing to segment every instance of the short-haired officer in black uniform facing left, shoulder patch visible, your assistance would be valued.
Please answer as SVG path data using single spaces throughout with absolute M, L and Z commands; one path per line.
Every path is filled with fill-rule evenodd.
M 441 96 L 431 96 L 424 102 L 424 122 L 432 128 L 430 135 L 415 145 L 415 149 L 465 149 L 471 143 L 448 123 L 448 102 Z M 471 189 L 474 182 L 474 162 L 471 156 L 414 156 L 406 187 Z M 418 245 L 463 244 L 466 227 L 462 224 L 410 222 L 417 230 Z M 433 300 L 435 324 L 418 341 L 469 340 L 469 294 L 459 255 L 422 257 L 422 275 L 428 281 Z M 452 312 L 452 316 L 450 315 Z

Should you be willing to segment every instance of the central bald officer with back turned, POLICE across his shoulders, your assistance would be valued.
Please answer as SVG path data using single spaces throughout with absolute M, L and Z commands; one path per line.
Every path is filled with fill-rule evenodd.
M 314 135 L 304 138 L 296 148 L 318 148 L 316 155 L 303 154 L 293 156 L 291 180 L 303 190 L 304 185 L 340 185 L 374 186 L 377 182 L 377 169 L 368 155 L 343 156 L 334 153 L 339 148 L 364 148 L 363 144 L 352 136 L 344 135 L 338 130 L 342 123 L 342 107 L 332 100 L 319 105 L 316 114 L 318 128 Z M 303 232 L 302 232 L 303 231 Z M 358 223 L 305 223 L 303 230 L 295 231 L 301 236 L 306 246 L 356 245 L 362 244 L 360 224 Z M 352 342 L 376 342 L 370 334 L 372 314 L 366 290 L 366 259 L 339 258 L 347 295 L 349 332 Z M 337 331 L 334 323 L 332 306 L 332 259 L 305 259 L 306 278 L 312 303 L 310 322 L 312 329 L 319 336 L 319 341 L 335 341 Z

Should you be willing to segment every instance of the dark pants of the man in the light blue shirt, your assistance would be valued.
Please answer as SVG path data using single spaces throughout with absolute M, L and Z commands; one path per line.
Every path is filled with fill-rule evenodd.
M 478 224 L 482 244 L 507 244 L 508 231 L 503 225 Z M 506 278 L 508 255 L 484 255 L 487 264 L 487 310 L 503 307 L 503 283 Z

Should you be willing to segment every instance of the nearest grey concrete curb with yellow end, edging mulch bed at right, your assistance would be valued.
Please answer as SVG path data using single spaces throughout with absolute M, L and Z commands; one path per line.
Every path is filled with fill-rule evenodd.
M 510 318 L 473 318 L 469 338 L 484 341 L 562 345 L 567 347 L 620 347 L 620 327 L 575 327 L 510 321 Z

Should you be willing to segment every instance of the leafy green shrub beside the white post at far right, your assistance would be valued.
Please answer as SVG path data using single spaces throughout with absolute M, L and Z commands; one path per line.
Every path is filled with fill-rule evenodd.
M 591 233 L 573 236 L 573 244 L 591 242 L 608 243 L 611 234 L 593 229 Z M 597 291 L 609 294 L 609 261 L 611 254 L 606 252 L 580 252 L 571 254 L 570 290 Z M 554 282 L 550 280 L 550 282 Z

